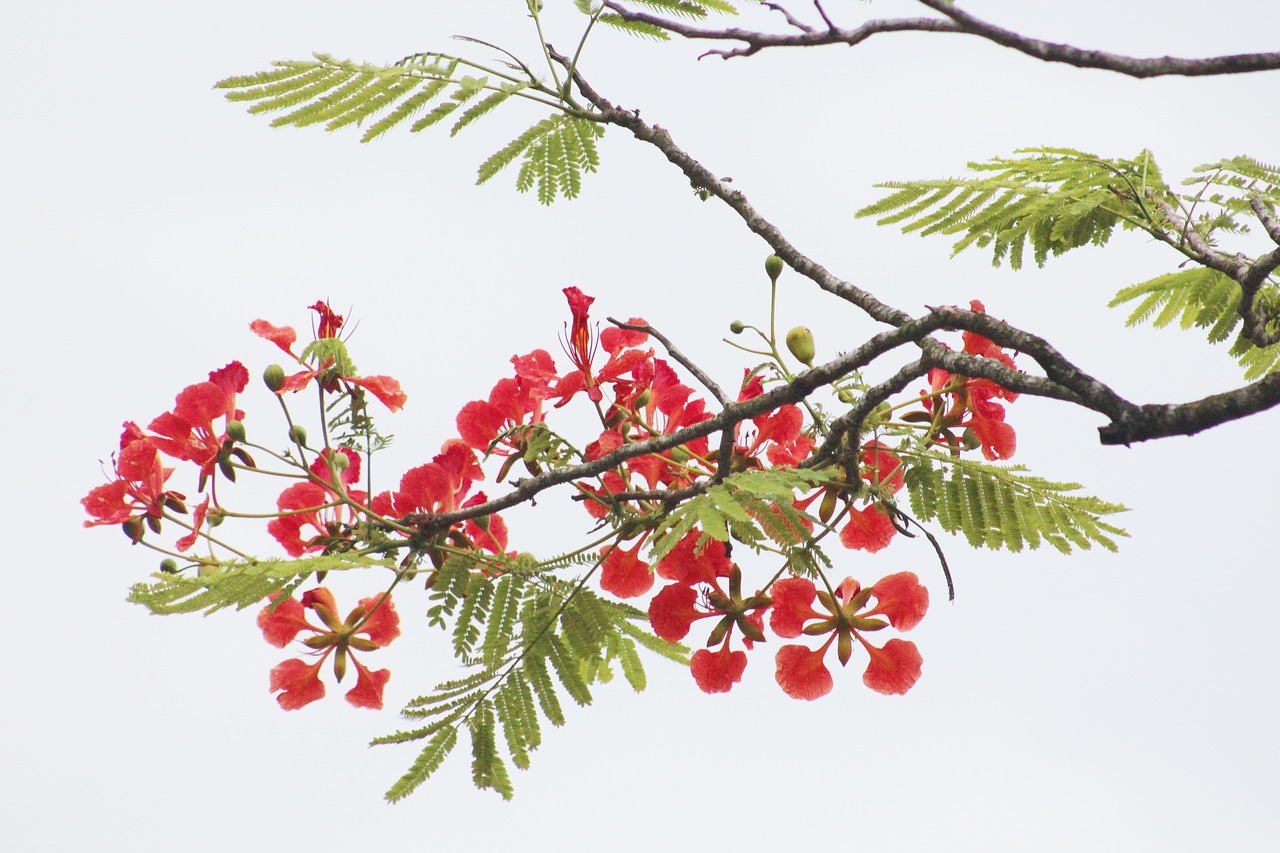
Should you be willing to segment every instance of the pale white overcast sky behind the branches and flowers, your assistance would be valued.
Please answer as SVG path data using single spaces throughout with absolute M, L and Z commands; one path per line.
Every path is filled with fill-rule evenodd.
M 827 5 L 849 24 L 868 9 L 910 10 Z M 471 788 L 465 745 L 408 800 L 381 800 L 416 749 L 365 744 L 454 672 L 442 635 L 413 619 L 421 599 L 401 599 L 404 635 L 379 652 L 394 674 L 383 713 L 337 695 L 282 712 L 266 679 L 284 654 L 253 612 L 156 619 L 124 603 L 155 564 L 113 530 L 81 529 L 96 460 L 123 420 L 145 423 L 210 369 L 241 359 L 256 377 L 275 360 L 247 330 L 255 318 L 306 327 L 319 297 L 353 306 L 357 361 L 411 396 L 383 421 L 399 437 L 384 471 L 436 452 L 512 353 L 554 348 L 567 284 L 596 296 L 600 316 L 644 315 L 722 383 L 739 375 L 718 341 L 730 320 L 765 316 L 767 248 L 622 132 L 607 136 L 584 197 L 547 210 L 515 193 L 513 174 L 471 186 L 485 156 L 540 118 L 532 109 L 507 108 L 456 140 L 435 128 L 360 146 L 356 132 L 271 131 L 210 91 L 312 50 L 369 61 L 471 50 L 453 33 L 535 56 L 524 0 L 443 6 L 6 8 L 0 280 L 15 375 L 4 500 L 17 552 L 4 587 L 0 847 L 1266 849 L 1280 829 L 1275 414 L 1125 450 L 1097 444 L 1093 415 L 1019 401 L 1016 461 L 1134 508 L 1119 555 L 1010 557 L 948 540 L 959 594 L 946 605 L 925 544 L 846 553 L 847 574 L 910 569 L 931 585 L 933 610 L 911 635 L 924 678 L 905 698 L 867 690 L 851 665 L 824 701 L 794 702 L 767 651 L 733 693 L 708 697 L 653 661 L 648 692 L 603 688 L 547 733 L 512 803 Z M 577 13 L 548 6 L 568 13 L 549 15 L 567 47 Z M 1263 0 L 968 8 L 1138 55 L 1275 47 Z M 927 35 L 731 63 L 696 53 L 602 32 L 584 69 L 732 175 L 837 274 L 906 310 L 980 297 L 1138 401 L 1235 380 L 1224 351 L 1125 330 L 1105 307 L 1172 269 L 1138 237 L 1014 274 L 980 255 L 948 261 L 943 241 L 851 214 L 878 197 L 876 181 L 952 175 L 1030 145 L 1108 156 L 1147 146 L 1169 178 L 1235 154 L 1275 161 L 1276 73 L 1139 82 Z M 809 324 L 819 353 L 863 339 L 851 311 L 783 282 L 782 328 Z M 256 435 L 278 429 L 261 396 L 246 407 Z M 563 500 L 540 503 L 511 516 L 515 547 L 549 552 L 585 529 Z M 349 589 L 339 603 L 369 593 Z

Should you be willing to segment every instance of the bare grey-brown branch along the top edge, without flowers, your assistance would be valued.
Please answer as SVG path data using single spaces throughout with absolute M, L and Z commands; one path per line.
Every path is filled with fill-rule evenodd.
M 750 56 L 765 47 L 814 47 L 818 45 L 856 45 L 882 32 L 945 32 L 978 36 L 1004 47 L 1047 63 L 1065 63 L 1076 68 L 1096 68 L 1128 77 L 1207 77 L 1215 74 L 1243 74 L 1249 72 L 1280 69 L 1280 53 L 1233 54 L 1204 59 L 1181 59 L 1178 56 L 1135 58 L 1112 54 L 1105 50 L 1084 50 L 1039 38 L 1020 36 L 1010 29 L 997 27 L 961 9 L 947 0 L 919 0 L 923 5 L 945 15 L 943 18 L 883 18 L 868 20 L 851 29 L 835 27 L 827 20 L 826 29 L 803 28 L 792 23 L 800 32 L 767 33 L 730 27 L 708 29 L 694 27 L 681 20 L 669 20 L 658 15 L 632 12 L 618 0 L 605 0 L 604 5 L 627 20 L 636 20 L 662 27 L 690 40 L 739 41 L 742 47 L 732 50 L 710 50 L 704 55 Z M 826 15 L 823 15 L 826 18 Z

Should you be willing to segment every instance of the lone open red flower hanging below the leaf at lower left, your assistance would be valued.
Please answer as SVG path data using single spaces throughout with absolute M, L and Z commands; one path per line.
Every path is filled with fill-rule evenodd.
M 278 593 L 276 593 L 278 596 Z M 273 602 L 276 598 L 273 596 Z M 311 610 L 323 622 L 316 628 L 310 622 L 306 611 Z M 334 678 L 340 683 L 347 672 L 347 661 L 356 667 L 356 686 L 347 692 L 347 702 L 357 708 L 381 708 L 383 688 L 390 678 L 389 670 L 370 671 L 356 660 L 355 651 L 371 652 L 399 637 L 399 616 L 390 596 L 383 593 L 362 598 L 360 605 L 338 620 L 338 608 L 333 593 L 319 587 L 302 594 L 302 602 L 287 598 L 278 606 L 265 607 L 257 616 L 262 637 L 276 648 L 284 648 L 300 633 L 314 635 L 303 640 L 320 657 L 315 663 L 293 658 L 271 670 L 271 693 L 279 692 L 276 702 L 285 711 L 296 711 L 325 694 L 320 681 L 320 667 L 334 654 Z

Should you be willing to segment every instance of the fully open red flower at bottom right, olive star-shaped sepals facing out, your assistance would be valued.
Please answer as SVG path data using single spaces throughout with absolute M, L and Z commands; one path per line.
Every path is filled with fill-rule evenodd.
M 769 622 L 776 633 L 782 637 L 831 634 L 815 651 L 804 646 L 783 646 L 778 649 L 777 681 L 787 695 L 817 699 L 829 693 L 832 680 L 824 662 L 827 649 L 835 643 L 840 665 L 844 666 L 852 656 L 854 639 L 861 643 L 870 657 L 863 672 L 867 686 L 877 693 L 901 694 L 919 680 L 923 658 L 915 643 L 891 639 L 879 648 L 863 635 L 888 626 L 905 631 L 919 624 L 929 607 L 929 592 L 913 573 L 888 575 L 870 589 L 863 589 L 856 580 L 846 578 L 835 594 L 818 592 L 810 580 L 791 578 L 774 583 L 771 592 L 774 610 Z M 876 607 L 864 610 L 873 597 Z M 815 601 L 827 612 L 815 610 Z M 888 621 L 878 616 L 884 616 Z

